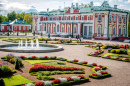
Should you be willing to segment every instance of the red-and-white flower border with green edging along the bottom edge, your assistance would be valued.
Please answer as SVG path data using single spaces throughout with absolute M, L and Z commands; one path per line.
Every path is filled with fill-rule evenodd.
M 41 81 L 36 83 L 36 85 L 31 84 L 31 86 L 68 86 L 68 85 L 74 85 L 74 84 L 79 84 L 79 83 L 84 83 L 88 82 L 89 78 L 84 77 L 83 75 L 78 75 L 78 76 L 70 76 L 67 78 L 58 78 L 51 81 Z M 21 86 L 28 86 L 26 85 L 21 85 Z

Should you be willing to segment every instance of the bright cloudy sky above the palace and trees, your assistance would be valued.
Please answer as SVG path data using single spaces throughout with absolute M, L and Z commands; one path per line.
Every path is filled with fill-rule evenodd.
M 63 9 L 70 7 L 71 3 L 89 4 L 93 1 L 94 6 L 100 6 L 104 0 L 0 0 L 0 15 L 6 16 L 7 13 L 15 11 L 16 13 L 28 11 L 46 11 L 53 9 Z M 110 6 L 118 5 L 118 8 L 130 10 L 130 0 L 105 0 Z

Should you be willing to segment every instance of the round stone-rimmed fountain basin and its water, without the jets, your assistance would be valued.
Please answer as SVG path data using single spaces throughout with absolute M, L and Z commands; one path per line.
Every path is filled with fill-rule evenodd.
M 25 44 L 23 44 L 25 46 Z M 0 45 L 0 51 L 6 51 L 6 52 L 18 52 L 18 53 L 47 53 L 47 52 L 57 52 L 63 50 L 62 46 L 57 45 L 50 45 L 50 44 L 39 44 L 39 48 L 31 48 L 30 47 L 23 47 L 19 48 L 18 44 L 6 44 L 6 45 Z

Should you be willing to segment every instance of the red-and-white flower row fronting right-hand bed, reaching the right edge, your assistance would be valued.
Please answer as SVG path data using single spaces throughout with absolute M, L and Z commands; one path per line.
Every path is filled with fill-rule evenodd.
M 104 55 L 102 56 L 102 58 L 106 58 L 106 59 L 112 59 L 112 60 L 118 60 L 118 61 L 125 61 L 125 62 L 130 62 L 129 58 L 122 58 L 122 57 L 118 57 L 118 56 L 110 56 L 110 55 Z

